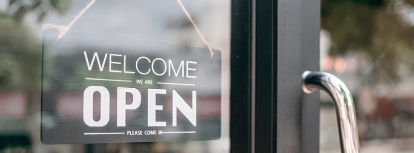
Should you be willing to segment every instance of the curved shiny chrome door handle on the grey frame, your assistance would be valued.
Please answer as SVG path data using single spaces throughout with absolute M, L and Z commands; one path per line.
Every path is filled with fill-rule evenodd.
M 345 83 L 330 73 L 303 72 L 303 92 L 309 94 L 315 89 L 325 90 L 333 99 L 342 152 L 359 152 L 354 100 Z

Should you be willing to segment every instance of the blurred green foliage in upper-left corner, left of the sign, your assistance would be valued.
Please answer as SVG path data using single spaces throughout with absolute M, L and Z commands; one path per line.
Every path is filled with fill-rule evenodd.
M 70 0 L 9 0 L 0 10 L 0 89 L 39 87 L 34 77 L 41 74 L 41 41 L 21 24 L 22 19 L 32 13 L 40 22 L 47 13 L 64 14 L 70 4 Z

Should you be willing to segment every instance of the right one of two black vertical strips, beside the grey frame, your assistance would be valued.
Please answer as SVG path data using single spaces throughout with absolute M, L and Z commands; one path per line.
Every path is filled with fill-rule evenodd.
M 254 100 L 255 152 L 275 152 L 276 149 L 276 87 L 277 1 L 255 3 Z

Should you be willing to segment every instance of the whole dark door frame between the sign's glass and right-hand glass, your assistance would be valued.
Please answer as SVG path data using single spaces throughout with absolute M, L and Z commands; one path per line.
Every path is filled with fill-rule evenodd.
M 320 0 L 232 1 L 231 152 L 319 152 Z

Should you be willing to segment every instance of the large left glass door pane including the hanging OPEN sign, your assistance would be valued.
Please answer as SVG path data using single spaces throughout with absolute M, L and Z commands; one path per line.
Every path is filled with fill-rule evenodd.
M 229 152 L 230 10 L 230 1 L 1 1 L 0 152 Z M 212 58 L 206 42 L 215 53 Z M 71 54 L 76 50 L 80 58 L 74 59 Z M 175 55 L 169 57 L 171 54 Z M 202 64 L 187 57 L 190 55 L 220 60 Z M 129 61 L 129 57 L 135 60 Z M 128 63 L 130 67 L 125 66 Z M 186 82 L 196 77 L 200 83 Z M 174 79 L 166 82 L 165 78 Z M 119 81 L 136 83 L 134 87 L 117 86 Z M 89 83 L 108 90 L 91 90 L 93 107 L 82 103 L 88 97 L 86 89 L 98 86 Z M 192 92 L 195 90 L 184 89 L 187 85 L 199 89 Z M 129 89 L 119 88 L 127 86 Z M 52 90 L 56 92 L 48 92 Z M 115 102 L 122 97 L 116 92 L 126 95 L 124 105 Z M 147 104 L 148 92 L 156 95 L 153 107 Z M 135 97 L 141 97 L 141 103 L 134 101 Z M 191 100 L 197 100 L 197 111 Z M 124 125 L 116 120 L 122 121 L 123 113 L 116 113 L 122 111 L 119 108 L 125 111 Z M 141 115 L 150 109 L 156 118 L 151 119 L 149 113 Z M 176 116 L 172 115 L 174 110 Z M 196 119 L 189 117 L 191 112 L 196 112 Z M 105 118 L 109 118 L 107 124 Z M 179 127 L 184 122 L 188 126 Z M 160 136 L 159 130 L 116 130 L 129 124 L 161 126 L 158 123 L 188 133 L 161 130 Z M 84 126 L 111 126 L 108 129 L 115 130 L 82 132 L 82 139 L 78 139 L 75 133 Z M 198 135 L 193 127 L 214 134 Z M 104 133 L 113 135 L 92 141 Z M 119 133 L 158 137 L 115 140 Z M 89 134 L 96 136 L 89 140 Z

